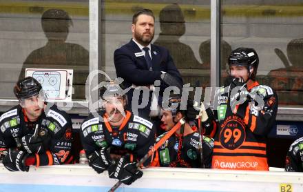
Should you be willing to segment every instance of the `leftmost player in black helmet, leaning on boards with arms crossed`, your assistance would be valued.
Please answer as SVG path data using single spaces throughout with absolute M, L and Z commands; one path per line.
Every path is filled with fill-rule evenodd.
M 9 171 L 29 171 L 72 160 L 72 121 L 53 105 L 47 108 L 41 84 L 26 77 L 14 86 L 19 105 L 0 117 L 2 163 Z

